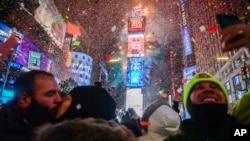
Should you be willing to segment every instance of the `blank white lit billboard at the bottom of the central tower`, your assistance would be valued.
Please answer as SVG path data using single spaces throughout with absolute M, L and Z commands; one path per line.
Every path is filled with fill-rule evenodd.
M 138 116 L 142 117 L 143 112 L 143 97 L 141 88 L 127 89 L 126 94 L 126 110 L 133 108 Z

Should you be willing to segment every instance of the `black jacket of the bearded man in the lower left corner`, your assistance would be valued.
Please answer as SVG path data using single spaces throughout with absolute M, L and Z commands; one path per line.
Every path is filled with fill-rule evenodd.
M 33 129 L 20 116 L 15 104 L 10 101 L 0 110 L 0 140 L 30 141 Z

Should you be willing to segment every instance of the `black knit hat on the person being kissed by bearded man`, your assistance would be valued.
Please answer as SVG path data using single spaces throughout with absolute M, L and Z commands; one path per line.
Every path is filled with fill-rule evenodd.
M 78 86 L 70 95 L 70 106 L 59 120 L 88 117 L 110 120 L 115 114 L 116 102 L 104 88 Z

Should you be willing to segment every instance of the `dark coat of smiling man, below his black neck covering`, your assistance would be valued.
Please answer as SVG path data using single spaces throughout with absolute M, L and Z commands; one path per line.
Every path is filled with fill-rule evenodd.
M 226 120 L 226 119 L 225 119 Z M 218 135 L 214 138 L 205 138 L 202 135 L 198 134 L 193 129 L 192 119 L 187 119 L 181 123 L 181 133 L 170 136 L 169 138 L 164 139 L 164 141 L 229 141 L 229 125 L 235 123 L 235 120 L 232 117 L 228 117 L 228 122 L 225 124 L 222 130 L 218 130 Z M 200 130 L 205 130 L 207 133 L 213 129 L 200 128 Z

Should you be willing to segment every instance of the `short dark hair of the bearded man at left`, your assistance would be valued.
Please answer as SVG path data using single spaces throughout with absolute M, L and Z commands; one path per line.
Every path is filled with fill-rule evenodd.
M 35 80 L 38 76 L 54 77 L 52 73 L 43 70 L 31 70 L 29 72 L 21 73 L 14 83 L 15 96 L 14 101 L 17 101 L 17 97 L 20 92 L 26 92 L 32 96 L 35 91 Z

